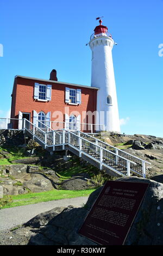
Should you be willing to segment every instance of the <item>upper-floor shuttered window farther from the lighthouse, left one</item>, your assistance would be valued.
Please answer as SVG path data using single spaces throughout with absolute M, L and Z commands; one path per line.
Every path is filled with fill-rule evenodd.
M 51 100 L 52 85 L 51 84 L 39 84 L 35 83 L 34 86 L 34 99 L 40 101 Z

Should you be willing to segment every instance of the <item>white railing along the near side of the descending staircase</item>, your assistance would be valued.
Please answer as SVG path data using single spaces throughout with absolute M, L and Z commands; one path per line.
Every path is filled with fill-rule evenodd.
M 30 123 L 28 120 L 24 122 L 24 130 L 28 130 L 27 127 L 29 125 L 27 125 L 27 122 Z M 51 130 L 45 132 L 39 129 L 37 126 L 33 125 L 32 123 L 30 123 L 30 126 L 31 125 L 32 127 L 30 127 L 30 131 L 32 131 L 33 133 L 33 138 L 36 137 L 41 142 L 43 142 L 45 148 L 53 147 L 53 150 L 55 150 L 55 147 L 61 145 L 62 149 L 64 150 L 65 145 L 69 145 L 70 147 L 79 151 L 80 157 L 82 156 L 82 154 L 84 154 L 98 162 L 100 169 L 105 166 L 120 175 L 130 176 L 130 172 L 134 172 L 143 177 L 146 176 L 146 161 L 138 159 L 141 161 L 141 163 L 137 163 L 135 161 L 132 161 L 131 159 L 121 156 L 118 151 L 113 152 L 111 150 L 103 148 L 101 147 L 101 145 L 98 145 L 97 141 L 96 143 L 93 143 L 88 139 L 81 137 L 82 132 L 78 132 L 78 134 L 76 134 L 65 129 L 59 131 Z M 131 157 L 133 157 L 133 160 L 137 160 L 137 157 Z M 134 169 L 134 166 L 137 165 L 139 166 L 139 171 L 137 171 L 137 169 Z

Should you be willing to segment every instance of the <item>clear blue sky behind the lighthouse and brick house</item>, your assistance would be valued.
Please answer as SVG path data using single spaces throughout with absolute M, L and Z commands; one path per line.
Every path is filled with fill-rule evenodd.
M 9 114 L 15 75 L 49 79 L 56 69 L 58 81 L 90 86 L 86 43 L 98 25 L 96 17 L 104 16 L 103 25 L 117 42 L 112 56 L 121 132 L 163 137 L 162 0 L 0 3 L 1 117 Z

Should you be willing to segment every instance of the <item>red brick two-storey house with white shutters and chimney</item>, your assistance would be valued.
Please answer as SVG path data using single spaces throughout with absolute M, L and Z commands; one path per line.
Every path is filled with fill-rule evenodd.
M 74 128 L 80 125 L 82 131 L 91 130 L 81 124 L 95 124 L 98 89 L 59 82 L 56 70 L 52 70 L 49 80 L 17 75 L 11 94 L 11 118 L 26 118 L 35 125 L 43 123 L 53 129 L 68 128 L 73 123 Z

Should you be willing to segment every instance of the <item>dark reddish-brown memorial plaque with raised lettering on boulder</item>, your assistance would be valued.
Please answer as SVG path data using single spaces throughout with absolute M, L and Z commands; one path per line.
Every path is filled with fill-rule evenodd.
M 149 184 L 107 181 L 79 234 L 100 245 L 123 245 Z

